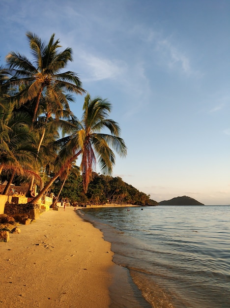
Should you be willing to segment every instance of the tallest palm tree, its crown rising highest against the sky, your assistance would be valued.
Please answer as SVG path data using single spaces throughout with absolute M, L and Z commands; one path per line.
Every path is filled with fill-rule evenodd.
M 52 34 L 48 44 L 45 44 L 36 34 L 27 32 L 29 47 L 33 61 L 20 53 L 10 52 L 6 56 L 9 71 L 14 75 L 12 84 L 22 86 L 22 91 L 14 96 L 18 107 L 22 104 L 31 105 L 32 123 L 36 120 L 41 98 L 45 95 L 49 101 L 56 104 L 57 109 L 68 106 L 66 92 L 83 94 L 82 83 L 78 75 L 72 71 L 62 72 L 69 61 L 72 61 L 72 49 L 66 48 L 58 52 L 59 40 L 54 40 Z

